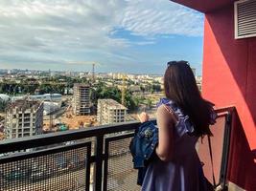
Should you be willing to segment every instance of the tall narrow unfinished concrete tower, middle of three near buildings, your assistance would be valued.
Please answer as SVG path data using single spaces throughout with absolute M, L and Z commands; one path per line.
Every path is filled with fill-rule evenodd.
M 87 84 L 74 84 L 73 113 L 76 116 L 90 114 L 90 86 Z

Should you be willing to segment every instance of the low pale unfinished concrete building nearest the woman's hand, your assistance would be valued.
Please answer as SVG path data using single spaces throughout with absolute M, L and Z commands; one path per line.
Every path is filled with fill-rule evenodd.
M 97 120 L 102 125 L 125 122 L 127 110 L 128 108 L 113 99 L 98 99 Z

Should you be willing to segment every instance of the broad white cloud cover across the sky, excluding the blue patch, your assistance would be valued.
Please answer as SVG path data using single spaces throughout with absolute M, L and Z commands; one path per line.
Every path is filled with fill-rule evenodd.
M 115 37 L 116 29 L 143 40 Z M 132 60 L 120 50 L 170 34 L 201 35 L 202 15 L 167 0 L 0 1 L 0 62 L 92 60 L 92 52 Z

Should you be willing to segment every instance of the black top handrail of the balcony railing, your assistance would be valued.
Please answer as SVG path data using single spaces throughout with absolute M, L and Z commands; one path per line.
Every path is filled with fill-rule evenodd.
M 215 111 L 219 116 L 223 112 L 231 112 L 234 106 L 217 108 Z M 155 119 L 151 119 L 155 122 Z M 66 132 L 56 132 L 51 134 L 37 135 L 27 138 L 14 138 L 0 141 L 0 153 L 8 153 L 17 150 L 46 146 L 81 138 L 91 138 L 105 134 L 118 133 L 136 129 L 140 125 L 139 121 L 123 122 L 118 124 L 102 125 L 97 127 L 88 127 L 80 130 L 69 130 Z

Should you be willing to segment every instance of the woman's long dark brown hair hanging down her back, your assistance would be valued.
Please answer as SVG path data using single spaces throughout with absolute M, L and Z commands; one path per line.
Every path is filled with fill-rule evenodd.
M 197 136 L 212 135 L 209 129 L 213 103 L 200 95 L 195 76 L 187 61 L 171 61 L 164 75 L 164 89 L 167 98 L 190 117 Z

